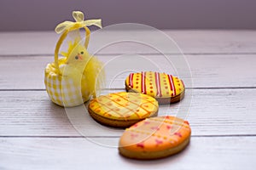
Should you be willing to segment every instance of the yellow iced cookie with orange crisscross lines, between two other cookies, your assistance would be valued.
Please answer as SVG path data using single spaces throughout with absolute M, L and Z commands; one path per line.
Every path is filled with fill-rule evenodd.
M 120 92 L 92 99 L 90 116 L 111 127 L 130 127 L 151 116 L 157 116 L 158 102 L 145 94 Z

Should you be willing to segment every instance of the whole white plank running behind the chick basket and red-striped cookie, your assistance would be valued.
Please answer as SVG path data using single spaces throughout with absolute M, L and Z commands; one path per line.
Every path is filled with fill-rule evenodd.
M 190 68 L 180 56 L 100 55 L 99 59 L 105 63 L 107 88 L 124 88 L 131 71 L 178 75 L 187 88 L 256 87 L 254 55 L 187 55 Z M 53 57 L 0 57 L 0 89 L 44 89 L 44 68 L 50 62 Z

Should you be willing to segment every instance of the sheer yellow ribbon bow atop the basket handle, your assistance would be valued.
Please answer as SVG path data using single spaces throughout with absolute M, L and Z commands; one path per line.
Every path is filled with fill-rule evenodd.
M 98 26 L 102 28 L 102 20 L 84 20 L 84 14 L 80 11 L 73 11 L 72 13 L 73 19 L 76 20 L 75 22 L 72 21 L 64 21 L 55 28 L 55 32 L 60 34 L 63 31 L 67 30 L 75 30 L 82 28 L 84 26 Z

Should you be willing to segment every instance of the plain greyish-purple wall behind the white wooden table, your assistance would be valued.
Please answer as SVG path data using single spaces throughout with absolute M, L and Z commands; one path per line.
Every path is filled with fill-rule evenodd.
M 256 29 L 256 0 L 0 0 L 0 31 L 48 31 L 73 10 L 108 26 L 137 22 L 159 29 Z

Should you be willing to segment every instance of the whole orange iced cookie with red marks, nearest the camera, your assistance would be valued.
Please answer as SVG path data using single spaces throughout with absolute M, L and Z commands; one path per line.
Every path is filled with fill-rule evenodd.
M 189 122 L 175 116 L 152 117 L 127 128 L 119 153 L 134 159 L 157 159 L 183 150 L 190 139 Z

